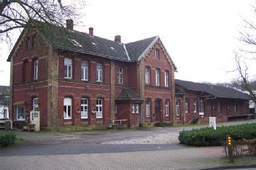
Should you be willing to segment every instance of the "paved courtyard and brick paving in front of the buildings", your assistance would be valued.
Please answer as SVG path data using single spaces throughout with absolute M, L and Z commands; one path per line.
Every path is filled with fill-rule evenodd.
M 243 123 L 236 121 L 224 125 Z M 195 127 L 202 126 L 207 125 Z M 0 169 L 203 169 L 228 166 L 227 161 L 220 161 L 224 156 L 222 147 L 179 144 L 179 131 L 193 128 L 17 132 L 18 138 L 30 142 L 1 147 Z M 256 163 L 256 158 L 251 162 Z

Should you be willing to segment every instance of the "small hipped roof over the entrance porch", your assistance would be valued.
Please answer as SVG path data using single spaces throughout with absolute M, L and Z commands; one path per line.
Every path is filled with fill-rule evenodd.
M 116 100 L 139 100 L 141 101 L 141 97 L 139 94 L 136 94 L 128 87 L 123 87 L 122 92 L 118 94 Z

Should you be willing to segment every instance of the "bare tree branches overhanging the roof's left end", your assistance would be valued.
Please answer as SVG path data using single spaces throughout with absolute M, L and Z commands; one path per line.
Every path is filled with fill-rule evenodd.
M 31 19 L 63 26 L 66 19 L 78 20 L 85 1 L 73 0 L 63 4 L 61 0 L 0 0 L 0 38 L 9 40 L 15 29 L 31 27 Z M 7 39 L 4 39 L 7 38 Z

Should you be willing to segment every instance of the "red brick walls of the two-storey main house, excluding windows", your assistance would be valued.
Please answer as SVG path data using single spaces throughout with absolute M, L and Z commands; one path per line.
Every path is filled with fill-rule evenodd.
M 27 38 L 35 45 L 27 48 Z M 159 58 L 155 58 L 158 50 Z M 64 60 L 71 59 L 71 78 L 64 78 Z M 34 60 L 38 60 L 38 78 L 34 79 Z M 23 122 L 18 106 L 24 112 L 33 109 L 33 99 L 39 100 L 41 126 L 109 125 L 115 119 L 127 119 L 128 126 L 172 122 L 174 113 L 174 64 L 168 57 L 160 39 L 142 56 L 139 62 L 121 62 L 78 52 L 57 51 L 47 39 L 36 31 L 26 31 L 11 54 L 12 119 Z M 88 62 L 88 81 L 82 81 L 81 63 Z M 102 82 L 96 81 L 97 63 L 102 65 Z M 114 63 L 114 66 L 112 67 Z M 145 68 L 150 68 L 150 84 L 145 84 Z M 118 80 L 118 70 L 123 69 L 123 84 Z M 160 86 L 155 85 L 155 70 L 160 70 Z M 166 85 L 166 73 L 168 85 Z M 140 94 L 141 102 L 115 102 L 123 87 Z M 64 99 L 71 99 L 70 115 L 64 118 Z M 81 99 L 88 103 L 88 118 L 81 118 Z M 97 103 L 102 101 L 102 118 L 96 118 Z M 112 100 L 114 99 L 114 100 Z M 146 116 L 145 100 L 150 100 L 150 113 Z M 166 105 L 168 101 L 168 105 Z M 157 102 L 157 106 L 155 103 Z M 132 105 L 139 105 L 139 113 L 132 113 Z M 65 104 L 66 105 L 66 104 Z M 117 113 L 113 113 L 113 106 Z M 101 106 L 98 106 L 101 107 Z M 168 108 L 168 109 L 167 109 Z M 168 113 L 167 113 L 168 112 Z M 19 116 L 19 118 L 18 118 Z M 70 116 L 70 117 L 69 117 Z

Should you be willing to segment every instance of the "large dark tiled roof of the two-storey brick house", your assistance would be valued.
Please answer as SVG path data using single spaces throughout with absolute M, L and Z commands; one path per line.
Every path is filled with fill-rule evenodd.
M 158 36 L 153 36 L 149 39 L 121 44 L 116 41 L 103 39 L 98 36 L 90 36 L 88 33 L 71 31 L 67 28 L 43 23 L 37 20 L 32 20 L 32 22 L 57 49 L 93 54 L 99 57 L 124 62 L 139 61 L 144 52 L 148 51 L 148 49 L 150 49 L 150 47 L 152 47 L 152 45 L 159 39 Z M 7 61 L 10 61 L 11 56 L 12 52 L 9 54 Z

